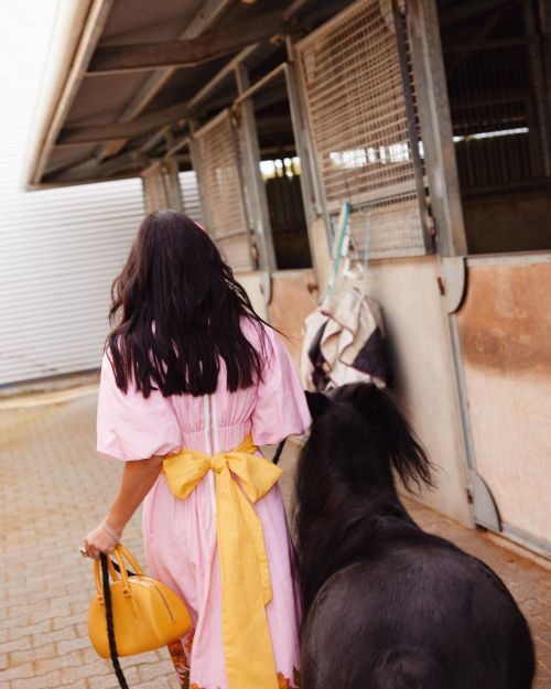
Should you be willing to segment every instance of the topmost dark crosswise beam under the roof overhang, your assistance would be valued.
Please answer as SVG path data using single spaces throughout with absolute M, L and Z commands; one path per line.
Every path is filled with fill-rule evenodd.
M 284 28 L 281 15 L 274 13 L 188 41 L 98 47 L 88 66 L 88 75 L 193 66 L 269 39 L 283 32 Z

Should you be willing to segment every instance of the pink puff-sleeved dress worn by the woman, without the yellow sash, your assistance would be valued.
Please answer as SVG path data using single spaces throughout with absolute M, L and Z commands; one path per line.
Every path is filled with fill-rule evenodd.
M 256 324 L 244 320 L 244 333 L 261 351 Z M 261 326 L 260 326 L 261 327 Z M 123 461 L 179 452 L 229 451 L 247 433 L 256 445 L 276 444 L 304 433 L 311 423 L 294 364 L 279 337 L 264 329 L 264 375 L 256 387 L 229 392 L 220 362 L 213 395 L 148 399 L 129 386 L 125 395 L 104 355 L 99 386 L 97 449 Z M 210 470 L 186 499 L 176 498 L 160 474 L 143 506 L 145 558 L 151 575 L 185 601 L 194 629 L 182 639 L 182 687 L 227 689 L 222 636 L 222 586 L 216 547 L 215 480 Z M 281 492 L 276 485 L 256 505 L 262 523 L 273 598 L 266 611 L 282 689 L 298 686 L 300 610 L 293 553 Z M 259 689 L 261 689 L 259 687 Z

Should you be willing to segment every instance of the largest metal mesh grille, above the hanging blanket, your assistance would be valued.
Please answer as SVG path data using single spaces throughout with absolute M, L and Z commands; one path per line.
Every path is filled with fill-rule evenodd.
M 370 208 L 371 255 L 423 254 L 390 3 L 357 2 L 299 43 L 298 56 L 329 213 L 344 201 Z

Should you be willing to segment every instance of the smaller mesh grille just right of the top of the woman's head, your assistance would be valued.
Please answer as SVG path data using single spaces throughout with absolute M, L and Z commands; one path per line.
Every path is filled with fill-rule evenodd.
M 208 232 L 234 270 L 253 268 L 244 211 L 240 160 L 229 112 L 195 133 Z

